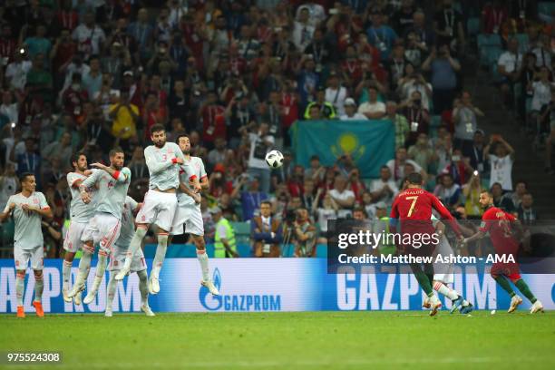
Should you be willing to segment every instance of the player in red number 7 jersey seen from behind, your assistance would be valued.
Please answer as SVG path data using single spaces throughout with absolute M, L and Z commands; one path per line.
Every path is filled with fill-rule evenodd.
M 401 191 L 397 198 L 395 198 L 390 219 L 390 229 L 394 232 L 396 228 L 397 219 L 401 224 L 403 234 L 421 234 L 428 235 L 429 238 L 435 232 L 432 223 L 432 210 L 435 209 L 443 219 L 446 219 L 452 224 L 453 229 L 457 236 L 461 236 L 461 230 L 453 219 L 449 210 L 447 210 L 442 202 L 438 200 L 433 194 L 422 189 L 424 180 L 422 175 L 413 172 L 406 177 L 406 189 Z M 404 239 L 404 238 L 403 238 Z M 404 253 L 413 254 L 414 256 L 432 256 L 434 246 L 432 244 L 424 245 L 421 248 L 415 248 L 411 245 L 400 246 L 404 249 Z M 437 314 L 437 311 L 442 307 L 441 301 L 433 294 L 433 265 L 424 264 L 423 268 L 415 263 L 412 263 L 411 269 L 413 270 L 418 284 L 424 290 L 426 296 L 429 298 L 430 303 L 430 316 Z

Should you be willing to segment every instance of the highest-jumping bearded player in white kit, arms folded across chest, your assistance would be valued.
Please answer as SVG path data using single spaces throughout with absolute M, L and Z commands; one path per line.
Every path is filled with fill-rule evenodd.
M 142 208 L 137 214 L 135 222 L 137 229 L 131 239 L 131 244 L 122 270 L 115 276 L 122 280 L 131 271 L 131 261 L 135 252 L 141 248 L 142 239 L 150 225 L 158 226 L 158 246 L 152 262 L 151 277 L 149 278 L 149 292 L 160 292 L 160 270 L 166 257 L 168 235 L 173 223 L 173 216 L 177 207 L 176 190 L 180 185 L 180 170 L 185 170 L 189 180 L 194 182 L 194 189 L 200 190 L 199 180 L 196 179 L 188 165 L 184 164 L 185 157 L 180 147 L 173 142 L 166 142 L 166 130 L 163 125 L 155 124 L 151 128 L 150 145 L 144 150 L 144 158 L 149 168 L 149 191 L 144 196 Z

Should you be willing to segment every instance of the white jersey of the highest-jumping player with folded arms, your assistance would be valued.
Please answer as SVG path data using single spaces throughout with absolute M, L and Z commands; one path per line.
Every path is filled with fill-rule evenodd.
M 163 191 L 180 186 L 180 166 L 175 164 L 175 160 L 180 158 L 185 161 L 185 157 L 178 144 L 166 142 L 161 148 L 150 145 L 144 150 L 144 158 L 151 175 L 149 189 Z

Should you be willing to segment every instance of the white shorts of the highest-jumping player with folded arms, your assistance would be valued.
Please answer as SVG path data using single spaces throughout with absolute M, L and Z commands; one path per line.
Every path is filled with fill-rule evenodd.
M 144 196 L 141 210 L 137 213 L 135 222 L 149 225 L 155 223 L 160 229 L 170 231 L 176 208 L 177 196 L 175 193 L 149 190 Z

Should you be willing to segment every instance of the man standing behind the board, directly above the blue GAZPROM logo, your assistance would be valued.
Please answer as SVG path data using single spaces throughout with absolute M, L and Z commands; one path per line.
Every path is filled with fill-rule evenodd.
M 260 216 L 250 222 L 250 238 L 253 240 L 255 257 L 280 257 L 279 243 L 282 240 L 282 224 L 272 217 L 272 203 L 263 200 L 260 203 Z

